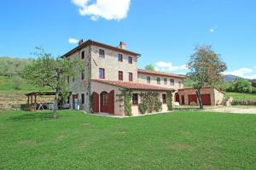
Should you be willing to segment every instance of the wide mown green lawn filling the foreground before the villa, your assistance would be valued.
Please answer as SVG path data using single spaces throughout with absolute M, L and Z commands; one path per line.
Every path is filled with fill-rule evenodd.
M 256 115 L 0 113 L 0 169 L 255 169 Z

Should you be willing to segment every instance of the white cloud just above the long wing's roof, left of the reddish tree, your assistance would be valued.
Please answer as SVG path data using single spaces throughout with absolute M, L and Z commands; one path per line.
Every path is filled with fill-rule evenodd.
M 158 71 L 177 71 L 187 70 L 187 65 L 172 65 L 171 62 L 160 61 L 155 63 L 155 69 Z

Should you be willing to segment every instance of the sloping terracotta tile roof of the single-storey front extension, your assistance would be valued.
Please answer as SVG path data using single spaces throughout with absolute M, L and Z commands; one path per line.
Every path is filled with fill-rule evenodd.
M 136 83 L 136 82 L 120 82 L 120 81 L 109 81 L 109 80 L 99 80 L 99 79 L 92 79 L 91 81 L 93 81 L 93 82 L 102 82 L 102 83 L 105 83 L 105 84 L 118 86 L 118 87 L 121 87 L 121 88 L 158 90 L 158 91 L 175 91 L 173 88 L 163 88 L 163 87 L 160 87 L 160 86 L 154 86 L 154 85 Z

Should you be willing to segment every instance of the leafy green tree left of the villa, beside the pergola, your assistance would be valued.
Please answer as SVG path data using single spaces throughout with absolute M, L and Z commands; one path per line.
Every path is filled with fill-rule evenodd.
M 38 88 L 49 87 L 55 91 L 53 118 L 56 118 L 58 100 L 67 99 L 68 77 L 75 77 L 78 71 L 84 71 L 84 65 L 78 59 L 68 60 L 60 57 L 54 58 L 43 48 L 37 48 L 31 65 L 24 69 L 24 77 Z

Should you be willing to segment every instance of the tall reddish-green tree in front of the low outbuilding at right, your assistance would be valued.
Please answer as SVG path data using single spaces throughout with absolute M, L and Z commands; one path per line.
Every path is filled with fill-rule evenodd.
M 218 82 L 222 82 L 222 73 L 227 69 L 227 66 L 219 58 L 219 54 L 216 54 L 211 46 L 206 45 L 195 48 L 195 53 L 190 56 L 188 68 L 188 76 L 194 82 L 196 96 L 200 108 L 203 109 L 201 88 L 215 87 Z

